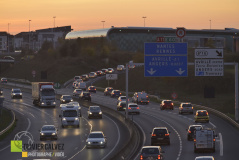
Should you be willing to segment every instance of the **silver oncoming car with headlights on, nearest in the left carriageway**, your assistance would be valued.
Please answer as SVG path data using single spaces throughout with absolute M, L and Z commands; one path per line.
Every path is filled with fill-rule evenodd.
M 86 148 L 90 147 L 101 147 L 107 146 L 107 137 L 102 131 L 92 131 L 86 139 Z

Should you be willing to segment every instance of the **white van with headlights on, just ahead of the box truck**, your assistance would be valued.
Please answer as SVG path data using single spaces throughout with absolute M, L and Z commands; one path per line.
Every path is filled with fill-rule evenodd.
M 76 106 L 73 104 L 64 104 L 61 106 L 61 113 L 59 117 L 61 118 L 61 126 L 64 128 L 65 126 L 76 126 L 80 127 L 80 106 Z

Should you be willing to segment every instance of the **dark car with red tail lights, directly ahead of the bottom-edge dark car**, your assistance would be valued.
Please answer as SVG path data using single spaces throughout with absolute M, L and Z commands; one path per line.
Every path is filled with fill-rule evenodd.
M 167 127 L 155 127 L 151 134 L 151 145 L 168 144 L 170 145 L 170 137 Z

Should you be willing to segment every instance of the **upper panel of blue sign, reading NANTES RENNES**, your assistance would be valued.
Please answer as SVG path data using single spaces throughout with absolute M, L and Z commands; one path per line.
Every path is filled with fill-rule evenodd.
M 144 55 L 187 55 L 187 43 L 145 43 Z

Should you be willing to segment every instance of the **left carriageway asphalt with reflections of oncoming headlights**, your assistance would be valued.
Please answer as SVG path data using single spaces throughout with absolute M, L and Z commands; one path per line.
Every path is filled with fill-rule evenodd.
M 64 144 L 64 156 L 61 158 L 51 159 L 109 159 L 118 151 L 118 147 L 124 144 L 125 137 L 127 137 L 127 128 L 120 125 L 114 117 L 110 115 L 103 115 L 102 119 L 88 119 L 87 108 L 82 107 L 82 118 L 80 120 L 80 128 L 61 128 L 61 121 L 59 118 L 59 101 L 57 101 L 56 108 L 39 108 L 32 105 L 31 94 L 23 92 L 23 99 L 11 99 L 10 89 L 4 89 L 4 106 L 12 109 L 17 116 L 17 126 L 19 131 L 28 131 L 32 134 L 34 143 L 53 143 Z M 23 123 L 21 123 L 23 122 Z M 19 124 L 19 125 L 20 125 Z M 39 130 L 42 125 L 54 124 L 58 128 L 58 140 L 40 141 Z M 91 131 L 103 131 L 107 136 L 107 147 L 102 149 L 86 149 L 86 139 Z M 10 153 L 10 140 L 14 139 L 14 135 L 7 137 L 0 143 L 1 159 L 21 159 L 21 153 Z M 48 152 L 53 151 L 49 150 Z M 44 158 L 44 157 L 41 157 Z M 46 157 L 47 158 L 47 157 Z M 33 159 L 24 158 L 24 159 Z

